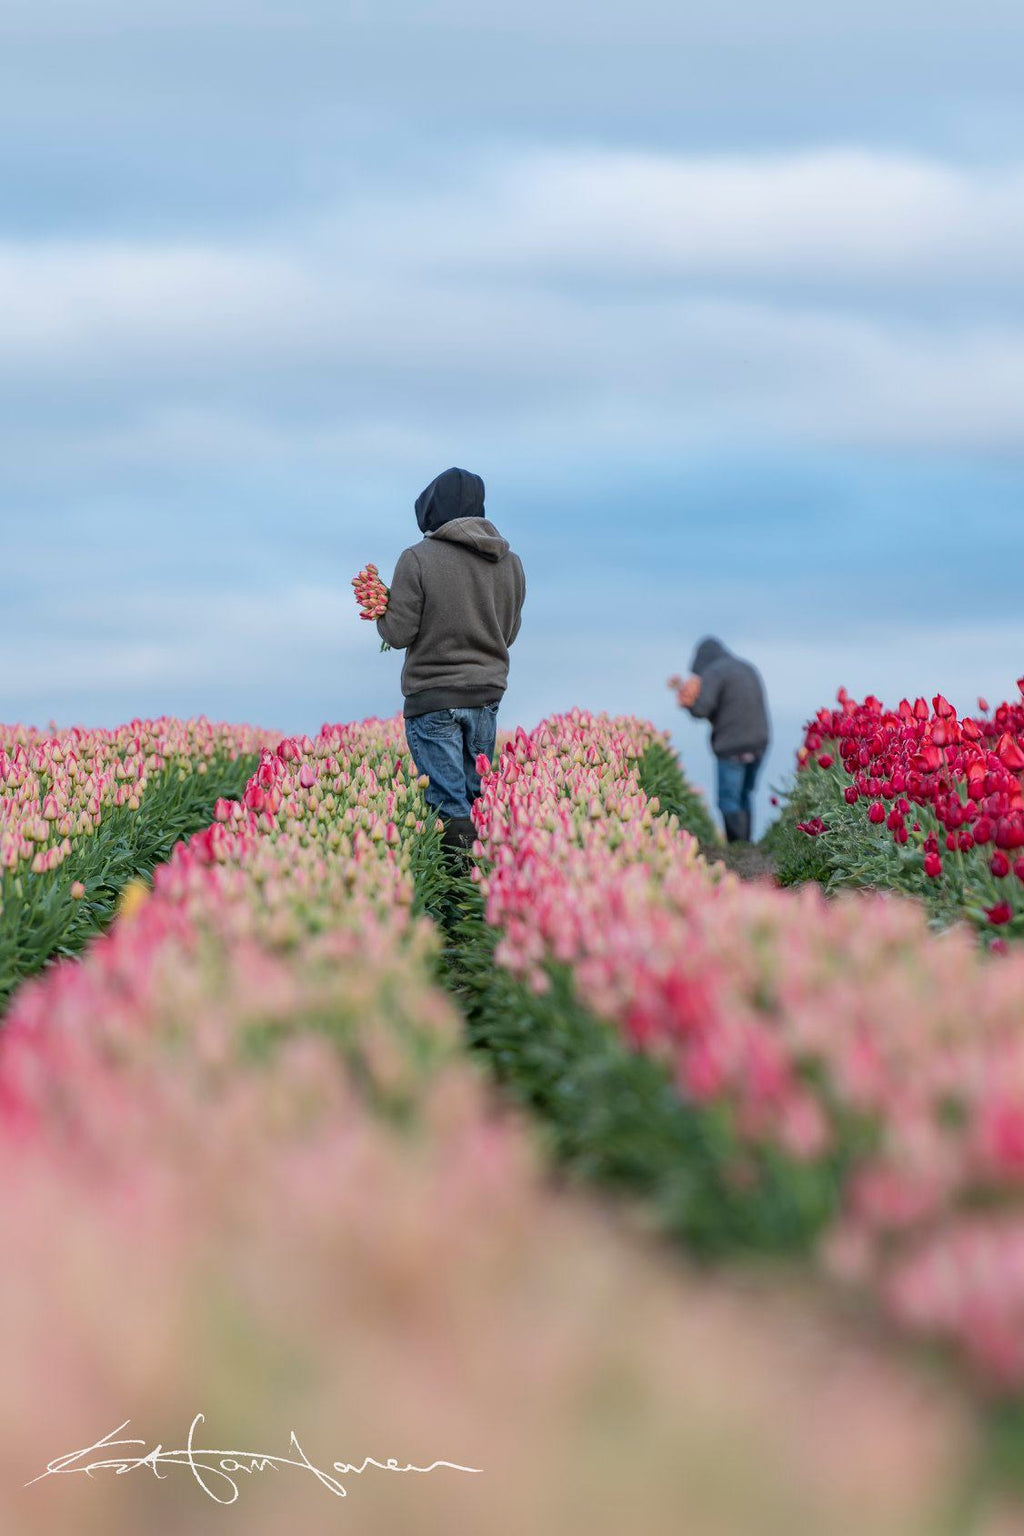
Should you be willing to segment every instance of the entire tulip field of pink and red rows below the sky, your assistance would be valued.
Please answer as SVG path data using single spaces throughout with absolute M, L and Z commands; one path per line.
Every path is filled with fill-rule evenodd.
M 924 710 L 792 889 L 631 717 L 471 856 L 401 720 L 2 727 L 0 1528 L 1024 1528 L 1024 705 Z

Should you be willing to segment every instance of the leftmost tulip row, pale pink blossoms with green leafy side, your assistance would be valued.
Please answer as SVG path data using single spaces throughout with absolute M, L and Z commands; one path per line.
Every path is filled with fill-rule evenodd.
M 241 794 L 276 736 L 206 719 L 0 727 L 0 1009 L 114 915 L 121 888 Z

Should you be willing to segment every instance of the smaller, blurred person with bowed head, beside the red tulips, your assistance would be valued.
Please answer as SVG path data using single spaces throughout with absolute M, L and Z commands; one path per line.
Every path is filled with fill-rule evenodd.
M 726 839 L 751 842 L 754 786 L 771 736 L 765 685 L 751 662 L 711 636 L 697 645 L 689 671 L 685 682 L 672 677 L 671 684 L 682 708 L 697 720 L 711 720 Z

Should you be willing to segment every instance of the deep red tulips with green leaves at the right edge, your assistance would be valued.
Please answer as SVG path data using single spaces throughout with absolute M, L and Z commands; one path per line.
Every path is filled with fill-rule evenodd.
M 1024 697 L 1024 679 L 1018 688 Z M 936 694 L 895 710 L 840 690 L 804 731 L 788 822 L 821 843 L 789 879 L 897 888 L 987 940 L 1024 935 L 1024 703 L 960 716 Z

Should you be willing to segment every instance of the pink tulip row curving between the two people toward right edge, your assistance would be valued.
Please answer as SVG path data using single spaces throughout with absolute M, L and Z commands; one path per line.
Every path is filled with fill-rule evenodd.
M 524 995 L 568 975 L 683 1104 L 717 1109 L 718 1155 L 755 1198 L 766 1154 L 821 1174 L 824 1264 L 987 1389 L 1024 1392 L 1024 955 L 930 934 L 913 903 L 706 865 L 642 793 L 643 743 L 636 723 L 559 716 L 485 776 L 496 960 Z

